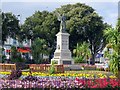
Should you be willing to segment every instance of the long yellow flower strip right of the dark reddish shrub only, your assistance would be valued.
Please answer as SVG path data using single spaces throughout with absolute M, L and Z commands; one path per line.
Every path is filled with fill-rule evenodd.
M 28 76 L 30 75 L 29 72 L 22 72 L 23 76 Z M 43 77 L 85 77 L 85 78 L 117 78 L 114 75 L 107 76 L 105 74 L 97 73 L 97 74 L 87 74 L 87 73 L 59 73 L 59 74 L 49 74 L 49 73 L 40 73 L 40 72 L 33 72 L 31 74 L 32 76 L 43 76 Z

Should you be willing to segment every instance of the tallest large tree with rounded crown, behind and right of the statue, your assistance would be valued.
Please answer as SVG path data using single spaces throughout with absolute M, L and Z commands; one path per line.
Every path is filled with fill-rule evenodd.
M 104 24 L 92 7 L 85 4 L 63 5 L 56 9 L 60 14 L 65 13 L 67 32 L 70 33 L 70 48 L 73 50 L 78 42 L 90 43 L 92 64 L 95 64 L 95 56 L 104 46 Z

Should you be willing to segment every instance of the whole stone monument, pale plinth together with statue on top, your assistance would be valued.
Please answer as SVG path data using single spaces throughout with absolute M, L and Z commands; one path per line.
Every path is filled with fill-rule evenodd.
M 64 15 L 60 15 L 57 13 L 58 20 L 60 23 L 60 32 L 56 34 L 57 36 L 57 46 L 54 52 L 54 57 L 51 59 L 51 62 L 54 60 L 55 62 L 60 64 L 74 64 L 74 61 L 71 57 L 71 52 L 69 50 L 69 36 L 66 32 L 66 17 Z

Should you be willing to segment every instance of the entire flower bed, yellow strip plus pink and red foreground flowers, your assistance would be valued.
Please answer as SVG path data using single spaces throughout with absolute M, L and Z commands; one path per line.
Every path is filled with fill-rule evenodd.
M 0 72 L 1 77 L 10 72 Z M 101 73 L 60 73 L 22 72 L 17 80 L 0 79 L 1 88 L 118 88 L 120 80 L 114 75 Z M 69 90 L 69 89 L 68 89 Z

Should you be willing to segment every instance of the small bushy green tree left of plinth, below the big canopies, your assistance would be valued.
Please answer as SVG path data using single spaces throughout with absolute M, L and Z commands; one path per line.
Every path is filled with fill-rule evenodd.
M 48 55 L 47 43 L 44 39 L 37 38 L 32 44 L 32 55 L 35 63 L 42 63 L 43 55 Z

